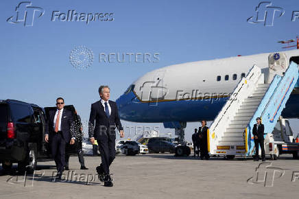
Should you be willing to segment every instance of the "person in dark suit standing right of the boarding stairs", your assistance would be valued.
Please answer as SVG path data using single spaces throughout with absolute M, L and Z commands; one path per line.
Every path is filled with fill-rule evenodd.
M 254 135 L 255 157 L 254 161 L 259 161 L 259 145 L 261 146 L 262 161 L 265 161 L 265 148 L 264 148 L 264 125 L 261 124 L 261 117 L 256 118 L 256 124 L 252 129 Z

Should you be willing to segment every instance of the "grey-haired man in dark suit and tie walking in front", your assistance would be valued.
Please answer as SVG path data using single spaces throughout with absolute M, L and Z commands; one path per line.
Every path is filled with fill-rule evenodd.
M 112 187 L 109 166 L 115 159 L 115 128 L 119 130 L 121 137 L 124 137 L 124 134 L 117 104 L 109 100 L 109 87 L 100 86 L 99 95 L 101 100 L 91 104 L 88 132 L 91 143 L 95 143 L 95 139 L 97 140 L 99 152 L 101 153 L 101 165 L 97 167 L 99 180 L 104 182 L 104 186 Z

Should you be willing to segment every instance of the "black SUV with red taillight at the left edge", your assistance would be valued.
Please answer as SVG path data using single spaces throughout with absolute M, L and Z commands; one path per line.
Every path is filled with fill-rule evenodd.
M 18 163 L 20 172 L 34 172 L 38 158 L 50 158 L 45 126 L 46 113 L 40 106 L 0 100 L 0 161 L 5 172 L 12 169 L 12 163 Z M 76 153 L 74 148 L 68 150 L 68 154 Z

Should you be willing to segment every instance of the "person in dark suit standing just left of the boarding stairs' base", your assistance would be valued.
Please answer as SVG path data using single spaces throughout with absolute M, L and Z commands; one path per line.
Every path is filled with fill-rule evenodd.
M 200 159 L 206 158 L 210 159 L 208 154 L 208 127 L 206 126 L 206 120 L 202 120 L 202 127 L 198 129 L 198 134 L 200 137 Z

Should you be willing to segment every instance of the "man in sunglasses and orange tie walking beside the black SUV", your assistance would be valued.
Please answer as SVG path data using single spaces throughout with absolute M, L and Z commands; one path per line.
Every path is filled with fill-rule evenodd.
M 61 179 L 65 165 L 65 145 L 74 144 L 73 115 L 70 110 L 64 109 L 64 100 L 58 97 L 56 110 L 49 111 L 47 118 L 45 141 L 51 143 L 51 153 L 56 163 L 57 178 Z

